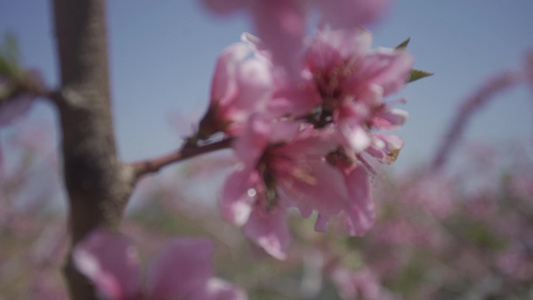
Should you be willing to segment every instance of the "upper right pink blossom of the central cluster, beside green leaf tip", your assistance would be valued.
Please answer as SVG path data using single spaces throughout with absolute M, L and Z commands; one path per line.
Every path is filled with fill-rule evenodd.
M 334 123 L 354 152 L 371 147 L 372 155 L 390 163 L 403 143 L 370 130 L 391 130 L 406 121 L 407 113 L 388 107 L 383 98 L 403 88 L 413 58 L 404 50 L 370 50 L 370 44 L 363 29 L 324 28 L 305 52 L 305 72 L 322 99 L 315 127 Z

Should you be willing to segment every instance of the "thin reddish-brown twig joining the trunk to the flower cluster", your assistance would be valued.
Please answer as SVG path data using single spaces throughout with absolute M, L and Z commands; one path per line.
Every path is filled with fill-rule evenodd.
M 161 168 L 179 162 L 191 157 L 229 148 L 233 138 L 227 138 L 218 142 L 203 146 L 190 146 L 185 145 L 181 150 L 157 157 L 154 159 L 144 160 L 140 162 L 134 162 L 131 164 L 133 172 L 136 177 L 140 177 L 149 173 L 155 173 Z

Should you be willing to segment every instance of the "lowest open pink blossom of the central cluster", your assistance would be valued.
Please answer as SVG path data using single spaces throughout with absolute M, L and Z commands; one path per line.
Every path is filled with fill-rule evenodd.
M 289 207 L 305 218 L 317 211 L 317 231 L 327 231 L 329 219 L 342 212 L 350 234 L 366 232 L 374 220 L 366 171 L 353 162 L 326 159 L 339 144 L 333 130 L 295 131 L 288 125 L 280 130 L 284 123 L 289 122 L 250 119 L 234 146 L 240 165 L 224 186 L 223 216 L 244 225 L 245 234 L 278 259 L 286 256 Z

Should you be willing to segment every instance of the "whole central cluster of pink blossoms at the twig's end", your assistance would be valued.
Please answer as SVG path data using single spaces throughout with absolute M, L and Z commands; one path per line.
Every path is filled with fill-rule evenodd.
M 298 78 L 249 34 L 219 57 L 199 139 L 235 138 L 239 164 L 220 208 L 276 258 L 286 256 L 286 210 L 318 212 L 317 231 L 339 217 L 350 235 L 374 222 L 370 157 L 394 162 L 403 141 L 391 130 L 407 119 L 385 101 L 402 89 L 413 58 L 404 49 L 370 49 L 362 28 L 324 26 L 302 51 Z

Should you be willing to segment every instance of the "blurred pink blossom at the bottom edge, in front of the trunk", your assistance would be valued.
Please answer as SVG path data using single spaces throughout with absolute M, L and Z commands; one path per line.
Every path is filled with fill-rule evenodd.
M 106 299 L 247 299 L 243 291 L 213 278 L 212 254 L 207 239 L 174 239 L 152 261 L 145 289 L 137 252 L 123 237 L 95 231 L 76 246 L 73 260 Z

